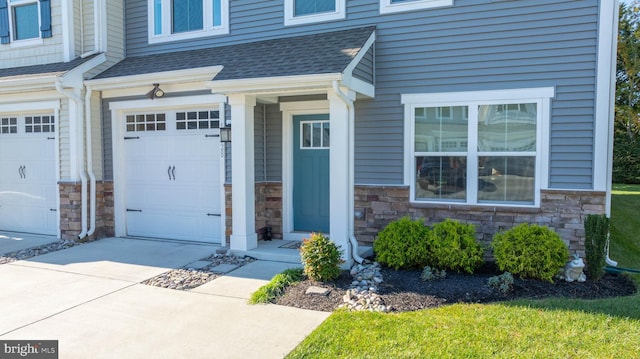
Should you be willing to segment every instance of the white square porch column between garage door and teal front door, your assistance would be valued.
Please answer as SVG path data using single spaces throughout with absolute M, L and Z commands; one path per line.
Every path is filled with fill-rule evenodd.
M 230 95 L 231 105 L 231 249 L 258 247 L 255 224 L 254 116 L 255 96 Z

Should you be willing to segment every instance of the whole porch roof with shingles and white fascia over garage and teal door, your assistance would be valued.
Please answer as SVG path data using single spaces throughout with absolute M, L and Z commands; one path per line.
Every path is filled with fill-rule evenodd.
M 111 90 L 141 83 L 200 82 L 202 89 L 227 95 L 320 93 L 339 81 L 373 97 L 374 43 L 375 27 L 369 26 L 130 57 L 85 83 Z M 356 71 L 363 59 L 368 67 Z

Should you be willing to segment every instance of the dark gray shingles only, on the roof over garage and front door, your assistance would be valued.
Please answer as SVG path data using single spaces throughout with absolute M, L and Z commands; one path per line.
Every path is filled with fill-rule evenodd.
M 215 80 L 340 73 L 374 26 L 126 58 L 96 79 L 222 65 Z

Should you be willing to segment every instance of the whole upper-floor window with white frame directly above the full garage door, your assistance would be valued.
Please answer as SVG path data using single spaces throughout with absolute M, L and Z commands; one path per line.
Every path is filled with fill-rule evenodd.
M 229 33 L 229 0 L 148 0 L 149 42 Z

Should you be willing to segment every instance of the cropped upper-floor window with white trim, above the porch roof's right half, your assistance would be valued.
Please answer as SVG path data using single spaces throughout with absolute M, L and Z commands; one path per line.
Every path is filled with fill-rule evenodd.
M 345 0 L 285 0 L 284 24 L 289 26 L 344 19 L 345 7 Z

